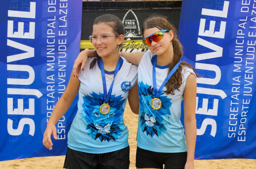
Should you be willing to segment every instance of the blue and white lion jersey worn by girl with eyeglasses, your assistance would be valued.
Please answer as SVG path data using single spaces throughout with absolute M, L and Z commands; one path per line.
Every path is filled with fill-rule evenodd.
M 104 103 L 102 76 L 99 64 L 89 70 L 93 58 L 88 58 L 85 70 L 80 71 L 78 111 L 68 132 L 68 147 L 87 153 L 107 153 L 127 147 L 128 129 L 123 114 L 129 89 L 136 84 L 136 65 L 121 57 L 115 76 L 108 114 L 100 113 Z M 113 81 L 114 71 L 105 70 L 107 91 Z

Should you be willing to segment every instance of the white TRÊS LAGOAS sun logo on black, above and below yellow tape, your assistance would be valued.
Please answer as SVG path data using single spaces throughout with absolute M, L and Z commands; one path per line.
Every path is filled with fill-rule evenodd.
M 136 14 L 130 9 L 126 12 L 123 18 L 123 24 L 125 28 L 125 40 L 142 40 L 139 20 Z M 123 52 L 141 52 L 146 49 L 123 49 Z

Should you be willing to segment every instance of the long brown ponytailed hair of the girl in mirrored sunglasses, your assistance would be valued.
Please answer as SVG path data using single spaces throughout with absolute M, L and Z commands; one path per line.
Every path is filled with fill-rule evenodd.
M 173 40 L 172 40 L 172 44 L 173 44 L 173 61 L 171 63 L 168 64 L 169 66 L 169 70 L 168 70 L 168 74 L 170 73 L 170 71 L 174 68 L 174 66 L 180 61 L 181 56 L 183 54 L 183 50 L 182 50 L 182 45 L 178 40 L 178 34 L 177 34 L 177 30 L 175 29 L 175 27 L 170 24 L 170 22 L 163 16 L 159 16 L 159 15 L 152 15 L 150 17 L 148 17 L 142 26 L 142 35 L 144 34 L 144 31 L 146 29 L 149 28 L 160 28 L 161 30 L 164 29 L 168 29 L 168 30 L 172 30 L 173 31 Z M 165 84 L 165 87 L 167 88 L 166 91 L 164 91 L 166 94 L 173 94 L 174 95 L 174 90 L 177 89 L 179 90 L 179 87 L 182 84 L 182 67 L 188 67 L 191 68 L 193 71 L 195 71 L 195 69 L 187 62 L 181 62 L 178 69 L 174 72 L 174 74 L 171 76 L 171 78 L 167 81 L 167 83 Z M 196 77 L 199 77 L 198 74 L 196 74 Z

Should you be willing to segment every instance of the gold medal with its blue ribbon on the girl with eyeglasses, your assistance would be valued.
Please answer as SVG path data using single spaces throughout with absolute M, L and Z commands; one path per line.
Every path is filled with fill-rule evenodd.
M 113 81 L 110 85 L 109 92 L 107 92 L 107 84 L 106 84 L 106 77 L 105 77 L 105 70 L 104 70 L 104 64 L 101 58 L 99 58 L 100 62 L 100 71 L 101 71 L 101 78 L 102 78 L 102 84 L 103 84 L 103 93 L 104 93 L 104 103 L 100 106 L 100 113 L 101 114 L 108 114 L 110 111 L 110 106 L 109 106 L 109 99 L 112 93 L 112 88 L 115 80 L 115 76 L 117 75 L 117 72 L 119 70 L 120 64 L 121 64 L 121 58 L 119 57 L 119 60 L 117 62 L 117 65 L 115 67 L 114 71 L 114 78 Z

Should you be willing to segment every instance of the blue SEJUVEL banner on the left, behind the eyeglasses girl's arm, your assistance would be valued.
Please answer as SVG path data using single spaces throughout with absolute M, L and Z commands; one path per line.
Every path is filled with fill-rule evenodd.
M 53 150 L 42 140 L 80 52 L 82 1 L 2 1 L 0 14 L 0 161 L 65 155 L 78 98 L 56 124 Z

